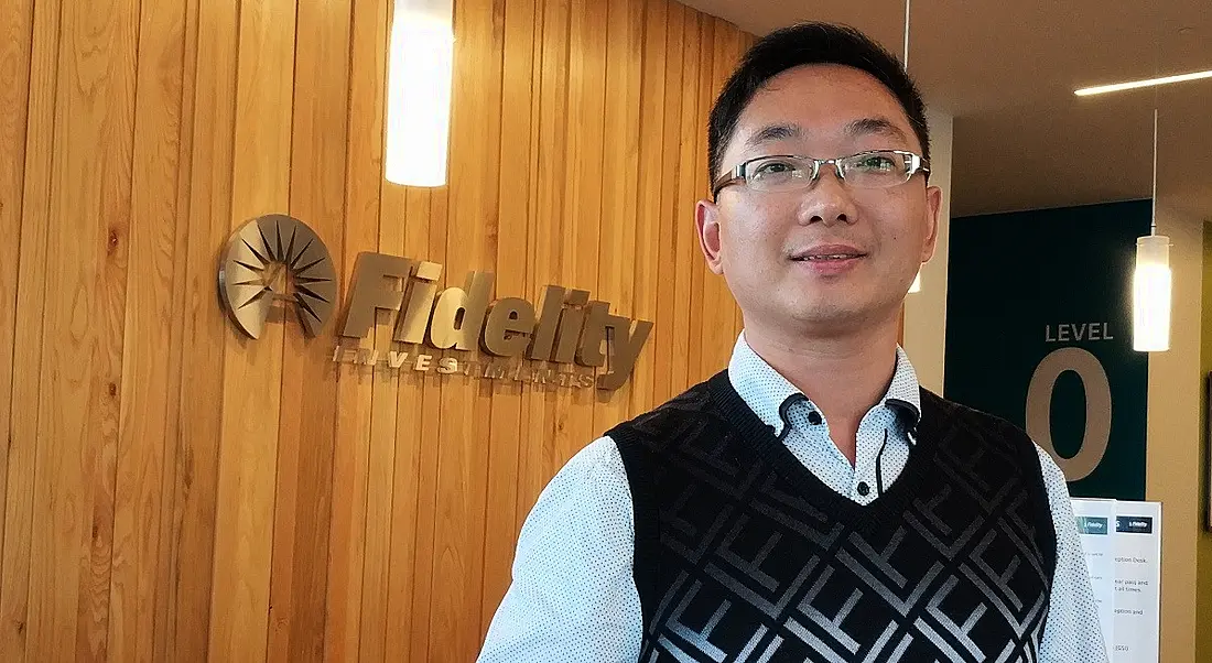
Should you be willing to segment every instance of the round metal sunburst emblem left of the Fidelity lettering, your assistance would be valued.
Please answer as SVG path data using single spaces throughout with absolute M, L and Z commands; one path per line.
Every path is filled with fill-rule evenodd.
M 265 215 L 231 235 L 219 263 L 219 293 L 241 331 L 259 338 L 274 305 L 286 302 L 314 337 L 332 314 L 337 274 L 328 248 L 305 223 Z

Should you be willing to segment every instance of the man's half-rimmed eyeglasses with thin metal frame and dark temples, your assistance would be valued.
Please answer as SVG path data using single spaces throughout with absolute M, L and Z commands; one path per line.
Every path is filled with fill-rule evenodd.
M 750 159 L 715 181 L 711 198 L 720 189 L 744 183 L 755 192 L 794 192 L 811 187 L 821 168 L 834 167 L 837 178 L 859 189 L 886 189 L 909 182 L 919 172 L 928 173 L 930 162 L 920 154 L 899 149 L 861 152 L 836 159 L 774 155 Z

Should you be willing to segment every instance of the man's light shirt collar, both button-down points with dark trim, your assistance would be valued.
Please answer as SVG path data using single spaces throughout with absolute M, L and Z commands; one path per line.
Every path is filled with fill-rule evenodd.
M 732 359 L 728 361 L 728 381 L 737 394 L 745 401 L 745 405 L 758 415 L 758 418 L 771 427 L 774 436 L 783 434 L 783 416 L 779 408 L 788 399 L 807 398 L 800 393 L 785 377 L 776 371 L 745 342 L 744 332 L 737 337 L 737 343 L 732 349 Z M 904 349 L 897 345 L 897 367 L 892 376 L 892 383 L 884 394 L 884 406 L 898 411 L 908 418 L 910 425 L 916 425 L 921 419 L 921 393 L 917 382 L 917 372 Z M 808 399 L 808 406 L 816 410 L 816 405 Z

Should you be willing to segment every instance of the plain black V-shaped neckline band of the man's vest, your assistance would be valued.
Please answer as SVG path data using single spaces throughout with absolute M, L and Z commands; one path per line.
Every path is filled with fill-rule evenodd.
M 876 497 L 870 504 L 859 504 L 834 491 L 812 470 L 804 467 L 804 463 L 791 453 L 791 450 L 774 436 L 773 429 L 766 425 L 741 398 L 728 379 L 727 370 L 716 373 L 708 381 L 708 390 L 727 422 L 737 429 L 764 461 L 771 464 L 774 471 L 783 475 L 791 485 L 805 491 L 806 497 L 812 501 L 819 499 L 818 508 L 827 508 L 846 520 L 882 522 L 886 519 L 898 518 L 904 511 L 909 499 L 920 495 L 919 487 L 927 479 L 927 470 L 938 448 L 941 430 L 937 417 L 939 412 L 933 402 L 934 399 L 931 398 L 933 394 L 922 389 L 921 419 L 917 424 L 917 438 L 909 453 L 909 461 L 882 496 Z

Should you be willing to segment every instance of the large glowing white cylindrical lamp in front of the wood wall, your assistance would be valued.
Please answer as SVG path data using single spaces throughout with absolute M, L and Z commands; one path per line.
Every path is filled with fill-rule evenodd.
M 453 0 L 395 0 L 383 167 L 388 182 L 446 184 L 453 8 Z

